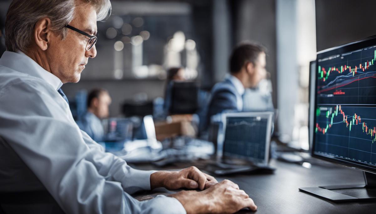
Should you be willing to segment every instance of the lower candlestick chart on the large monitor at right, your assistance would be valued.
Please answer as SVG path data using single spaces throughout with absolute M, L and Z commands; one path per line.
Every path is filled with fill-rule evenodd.
M 316 149 L 353 161 L 376 163 L 376 107 L 319 106 Z

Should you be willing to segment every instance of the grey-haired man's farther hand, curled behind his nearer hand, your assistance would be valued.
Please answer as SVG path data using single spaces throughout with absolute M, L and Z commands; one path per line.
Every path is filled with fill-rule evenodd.
M 214 177 L 203 173 L 195 166 L 180 171 L 158 171 L 150 175 L 151 189 L 165 187 L 169 190 L 180 188 L 203 190 L 216 183 L 218 181 Z

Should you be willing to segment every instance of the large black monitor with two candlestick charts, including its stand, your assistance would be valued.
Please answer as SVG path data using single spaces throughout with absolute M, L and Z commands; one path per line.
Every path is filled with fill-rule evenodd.
M 332 201 L 376 199 L 375 61 L 376 36 L 317 53 L 312 156 L 362 170 L 365 185 L 300 190 Z

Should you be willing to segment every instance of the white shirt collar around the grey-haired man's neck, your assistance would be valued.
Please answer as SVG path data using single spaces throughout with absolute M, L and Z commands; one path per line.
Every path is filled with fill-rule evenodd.
M 63 85 L 57 76 L 44 70 L 38 63 L 21 51 L 17 53 L 5 51 L 0 58 L 0 65 L 43 79 L 52 85 L 56 91 Z

